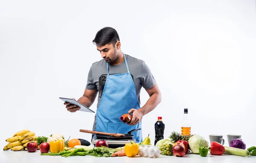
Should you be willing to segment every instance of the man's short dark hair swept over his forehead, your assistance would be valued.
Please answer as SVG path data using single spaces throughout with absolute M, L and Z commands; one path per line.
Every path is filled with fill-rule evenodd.
M 120 41 L 119 36 L 114 28 L 105 27 L 99 30 L 93 39 L 93 43 L 104 46 L 112 43 L 115 46 L 116 42 Z

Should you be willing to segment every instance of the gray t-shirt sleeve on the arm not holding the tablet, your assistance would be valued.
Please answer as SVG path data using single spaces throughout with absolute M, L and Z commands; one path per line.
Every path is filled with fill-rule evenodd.
M 156 83 L 154 76 L 152 75 L 150 69 L 148 66 L 145 64 L 145 62 L 142 62 L 142 67 L 141 67 L 141 73 L 142 73 L 142 86 L 145 89 L 149 89 L 154 86 Z

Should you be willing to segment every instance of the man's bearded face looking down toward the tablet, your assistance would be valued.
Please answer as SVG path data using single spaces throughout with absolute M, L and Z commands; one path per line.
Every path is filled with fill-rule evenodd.
M 105 59 L 106 62 L 110 63 L 113 62 L 117 57 L 117 50 L 115 47 L 113 47 L 113 44 L 107 44 L 104 46 L 96 45 L 97 50 L 100 52 L 103 59 Z

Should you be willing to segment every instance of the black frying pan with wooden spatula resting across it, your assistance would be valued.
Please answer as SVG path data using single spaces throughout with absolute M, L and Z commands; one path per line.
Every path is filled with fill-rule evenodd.
M 131 135 L 131 133 L 133 133 L 137 130 L 140 130 L 140 128 L 132 129 L 131 131 L 128 131 L 127 134 L 98 132 L 98 131 L 90 131 L 90 130 L 85 130 L 85 129 L 80 129 L 80 132 L 95 134 L 97 139 L 130 139 L 130 138 L 134 137 L 134 135 Z

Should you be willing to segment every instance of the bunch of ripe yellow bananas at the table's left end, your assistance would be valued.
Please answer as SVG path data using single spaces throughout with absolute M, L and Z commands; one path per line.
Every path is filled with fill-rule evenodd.
M 11 138 L 6 139 L 8 144 L 3 148 L 4 151 L 11 149 L 12 151 L 22 151 L 31 141 L 36 141 L 35 132 L 23 129 L 15 133 Z

